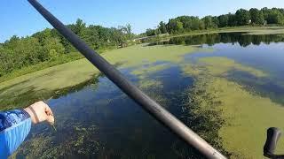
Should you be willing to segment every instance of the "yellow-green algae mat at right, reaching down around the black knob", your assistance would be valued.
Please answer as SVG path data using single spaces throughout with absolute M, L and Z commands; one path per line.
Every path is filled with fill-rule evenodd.
M 199 65 L 198 65 L 199 64 Z M 246 90 L 236 82 L 226 79 L 232 70 L 248 72 L 256 78 L 269 76 L 267 73 L 244 66 L 225 57 L 203 57 L 197 65 L 184 66 L 185 74 L 196 77 L 195 89 L 209 95 L 218 104 L 210 104 L 212 98 L 201 98 L 201 110 L 216 110 L 224 119 L 219 129 L 223 147 L 232 158 L 263 158 L 263 146 L 268 127 L 284 129 L 284 107 Z M 214 120 L 214 117 L 212 117 Z M 278 150 L 284 148 L 283 140 Z

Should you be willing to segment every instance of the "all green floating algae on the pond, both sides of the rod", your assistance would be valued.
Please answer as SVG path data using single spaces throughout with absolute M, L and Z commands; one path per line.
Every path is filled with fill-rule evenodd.
M 178 65 L 185 76 L 195 78 L 193 89 L 197 89 L 197 94 L 191 94 L 193 90 L 185 94 L 198 101 L 194 102 L 198 103 L 198 109 L 194 110 L 196 116 L 204 112 L 215 112 L 209 116 L 209 120 L 222 120 L 220 127 L 213 130 L 217 131 L 217 138 L 220 138 L 217 141 L 221 142 L 222 148 L 232 153 L 232 158 L 262 158 L 266 128 L 282 125 L 284 107 L 280 103 L 272 102 L 270 98 L 248 91 L 241 84 L 228 79 L 227 75 L 232 71 L 241 71 L 262 79 L 270 78 L 270 74 L 226 57 L 202 57 L 196 64 L 185 60 L 185 55 L 200 50 L 202 49 L 182 45 L 138 45 L 114 49 L 103 54 L 103 57 L 120 69 L 131 68 L 131 74 L 141 79 L 138 85 L 142 89 L 162 87 L 161 81 L 147 79 L 147 75 L 170 68 L 171 64 Z M 56 91 L 98 77 L 99 71 L 85 59 L 60 64 L 1 83 L 0 105 L 5 106 L 3 109 L 24 107 L 23 103 L 32 101 L 21 102 L 23 98 L 36 100 L 41 98 L 38 95 L 50 97 Z M 19 97 L 20 100 L 17 101 Z M 162 99 L 157 97 L 160 98 Z M 189 105 L 185 104 L 185 107 Z M 201 136 L 210 137 L 208 131 L 212 131 L 212 128 L 201 130 Z M 278 148 L 284 148 L 282 140 Z

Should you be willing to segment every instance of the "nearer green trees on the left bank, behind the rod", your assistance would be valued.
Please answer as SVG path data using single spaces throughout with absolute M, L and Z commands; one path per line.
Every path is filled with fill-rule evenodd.
M 75 24 L 67 27 L 96 50 L 123 47 L 134 36 L 130 25 L 117 28 L 86 26 L 82 19 L 77 19 Z M 10 40 L 0 43 L 0 77 L 30 65 L 63 60 L 62 58 L 74 51 L 71 43 L 55 29 L 47 28 L 22 38 L 12 36 Z

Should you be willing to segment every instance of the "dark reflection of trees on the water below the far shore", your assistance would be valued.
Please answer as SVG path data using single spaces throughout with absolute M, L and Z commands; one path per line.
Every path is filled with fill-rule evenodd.
M 247 47 L 250 44 L 260 45 L 262 42 L 270 44 L 270 42 L 284 42 L 284 34 L 242 34 L 242 33 L 219 33 L 219 34 L 197 34 L 171 38 L 168 42 L 155 44 L 208 44 L 209 46 L 216 43 L 236 43 L 242 47 Z

